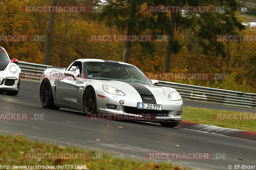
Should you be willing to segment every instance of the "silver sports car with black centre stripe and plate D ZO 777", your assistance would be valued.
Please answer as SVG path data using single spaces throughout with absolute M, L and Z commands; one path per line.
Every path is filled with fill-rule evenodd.
M 45 108 L 65 107 L 85 115 L 150 114 L 148 122 L 175 127 L 182 120 L 183 101 L 171 87 L 156 86 L 136 66 L 100 59 L 78 59 L 67 69 L 48 67 L 40 81 Z

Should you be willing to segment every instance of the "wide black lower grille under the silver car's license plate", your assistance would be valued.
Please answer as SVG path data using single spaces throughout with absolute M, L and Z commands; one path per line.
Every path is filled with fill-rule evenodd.
M 128 106 L 124 107 L 124 112 L 131 113 L 131 114 L 149 113 L 149 114 L 154 114 L 156 117 L 168 116 L 169 114 L 168 110 L 157 111 L 157 110 L 148 110 L 148 109 L 138 109 L 136 107 L 128 107 Z

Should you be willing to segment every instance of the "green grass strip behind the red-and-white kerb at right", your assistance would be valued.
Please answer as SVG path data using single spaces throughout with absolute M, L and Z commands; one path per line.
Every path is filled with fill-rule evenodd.
M 256 132 L 256 119 L 254 120 L 215 120 L 213 118 L 214 114 L 218 113 L 241 113 L 245 112 L 233 112 L 227 110 L 214 110 L 207 108 L 197 108 L 197 107 L 184 107 L 183 121 L 209 124 L 224 128 L 248 130 Z

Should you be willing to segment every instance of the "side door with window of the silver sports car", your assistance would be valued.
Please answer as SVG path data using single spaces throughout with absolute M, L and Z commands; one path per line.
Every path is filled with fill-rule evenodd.
M 82 63 L 75 62 L 68 69 L 68 71 L 73 71 L 74 74 L 80 75 L 80 68 L 82 68 Z M 58 101 L 76 107 L 76 98 L 79 89 L 79 82 L 80 80 L 74 80 L 73 77 L 68 77 L 64 75 L 63 79 L 59 79 L 58 81 L 56 81 L 56 95 Z

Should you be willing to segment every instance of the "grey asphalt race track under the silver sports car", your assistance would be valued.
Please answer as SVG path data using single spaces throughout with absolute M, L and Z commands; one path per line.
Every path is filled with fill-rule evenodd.
M 255 113 L 255 109 L 228 107 L 194 101 L 185 106 Z M 0 113 L 44 114 L 45 120 L 0 121 L 0 134 L 23 133 L 25 137 L 61 145 L 111 152 L 119 157 L 145 159 L 146 153 L 224 153 L 226 159 L 172 160 L 195 169 L 229 169 L 232 165 L 256 165 L 256 143 L 243 139 L 181 128 L 165 128 L 143 122 L 89 120 L 82 112 L 51 110 L 41 106 L 39 81 L 21 80 L 17 96 L 0 94 Z M 186 114 L 186 113 L 185 113 Z M 105 124 L 108 123 L 109 126 Z M 125 129 L 117 128 L 118 126 Z M 101 141 L 95 141 L 100 139 Z M 176 147 L 175 145 L 180 145 Z M 104 155 L 103 155 L 104 156 Z M 238 158 L 243 158 L 239 160 Z M 152 160 L 150 160 L 152 161 Z M 168 160 L 164 160 L 168 161 Z

